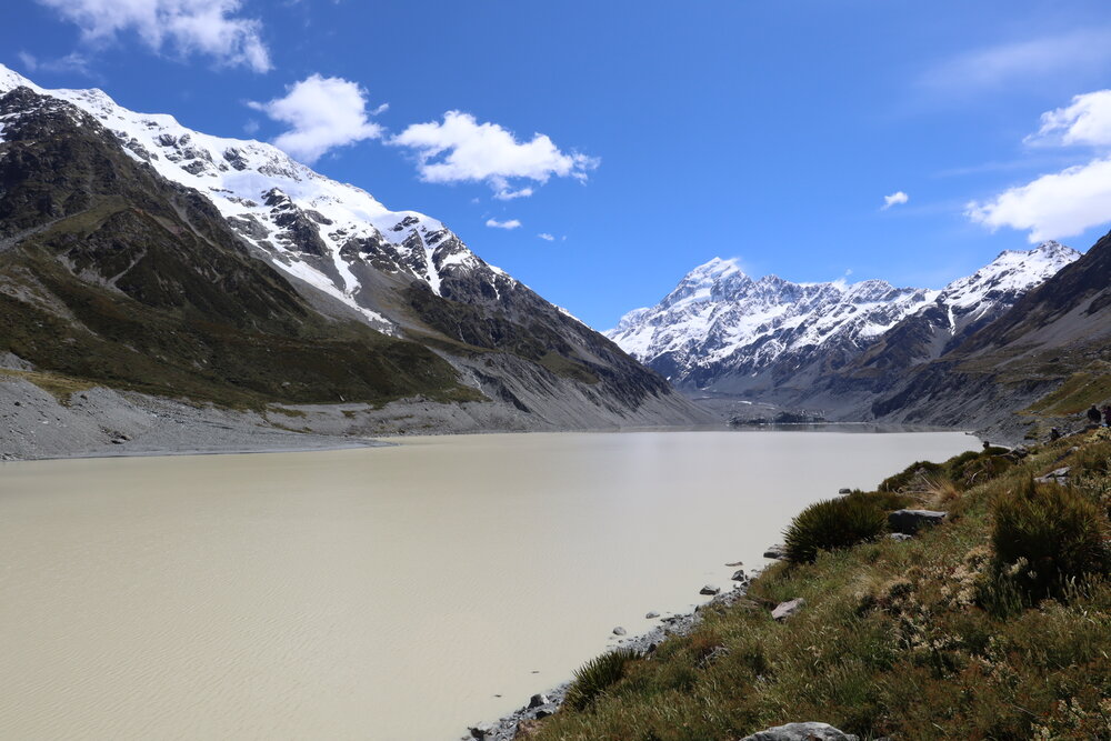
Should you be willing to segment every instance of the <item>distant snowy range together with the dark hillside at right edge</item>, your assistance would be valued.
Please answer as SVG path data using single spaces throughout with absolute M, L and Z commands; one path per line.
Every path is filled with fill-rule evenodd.
M 607 334 L 703 403 L 1013 429 L 1015 412 L 1067 415 L 1111 395 L 1109 250 L 1108 238 L 1083 256 L 1052 241 L 1009 250 L 940 291 L 753 280 L 715 259 Z

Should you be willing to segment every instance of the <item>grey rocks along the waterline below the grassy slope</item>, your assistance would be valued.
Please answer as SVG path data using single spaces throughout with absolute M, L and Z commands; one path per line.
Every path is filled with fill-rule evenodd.
M 740 567 L 741 563 L 730 563 L 729 567 Z M 742 570 L 733 574 L 732 589 L 718 590 L 712 599 L 699 604 L 690 612 L 660 618 L 660 624 L 652 630 L 639 635 L 624 637 L 624 629 L 614 628 L 613 634 L 619 635 L 617 644 L 609 651 L 631 650 L 642 655 L 651 655 L 661 643 L 670 638 L 687 635 L 701 622 L 703 611 L 712 607 L 729 607 L 737 603 L 748 594 L 749 583 L 760 574 L 761 569 L 753 569 L 745 573 Z M 743 574 L 743 575 L 742 575 Z M 715 587 L 707 585 L 700 593 L 709 594 L 708 590 L 717 590 Z M 649 613 L 651 614 L 651 613 Z M 619 632 L 620 631 L 620 632 Z M 528 738 L 528 728 L 531 722 L 539 721 L 553 714 L 563 703 L 567 690 L 571 685 L 571 680 L 567 680 L 547 692 L 533 694 L 529 702 L 518 708 L 508 715 L 503 715 L 493 722 L 476 723 L 467 729 L 467 733 L 460 737 L 461 741 L 513 741 L 513 739 Z

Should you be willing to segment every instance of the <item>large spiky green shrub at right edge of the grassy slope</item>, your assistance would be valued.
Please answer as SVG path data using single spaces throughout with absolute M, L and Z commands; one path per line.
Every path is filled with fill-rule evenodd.
M 999 568 L 1032 600 L 1060 597 L 1071 582 L 1107 574 L 1107 520 L 1072 489 L 1030 478 L 992 503 Z

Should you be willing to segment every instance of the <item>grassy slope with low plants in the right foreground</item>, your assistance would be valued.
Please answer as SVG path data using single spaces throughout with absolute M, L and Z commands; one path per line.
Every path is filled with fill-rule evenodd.
M 632 662 L 591 707 L 561 710 L 529 738 L 735 740 L 819 720 L 863 739 L 1111 739 L 1107 574 L 1065 602 L 1005 618 L 978 607 L 992 557 L 991 499 L 1069 464 L 1105 515 L 1107 431 L 1015 464 L 965 460 L 955 485 L 921 494 L 949 509 L 947 524 L 909 542 L 882 539 L 810 565 L 772 567 L 749 600 L 710 611 L 690 637 Z M 770 618 L 771 607 L 797 597 L 807 607 L 795 618 Z M 728 653 L 708 663 L 717 647 Z

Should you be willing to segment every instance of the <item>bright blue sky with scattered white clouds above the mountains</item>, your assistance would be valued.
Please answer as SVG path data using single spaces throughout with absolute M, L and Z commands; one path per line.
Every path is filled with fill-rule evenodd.
M 0 62 L 39 84 L 284 142 L 601 329 L 715 256 L 938 288 L 1111 221 L 1105 2 L 8 0 L 3 21 Z M 319 97 L 336 114 L 306 122 Z

